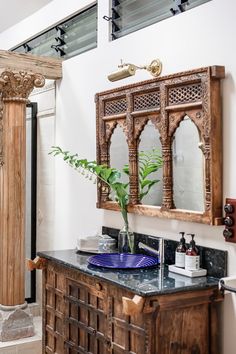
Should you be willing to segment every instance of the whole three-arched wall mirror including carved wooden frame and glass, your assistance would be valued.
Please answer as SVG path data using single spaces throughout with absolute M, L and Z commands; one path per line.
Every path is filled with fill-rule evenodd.
M 123 182 L 130 177 L 129 212 L 222 224 L 224 76 L 223 66 L 211 66 L 96 95 L 98 162 L 120 170 L 128 164 Z M 163 165 L 148 171 L 142 190 L 139 173 L 146 161 L 140 159 L 155 150 Z M 119 210 L 101 188 L 97 205 Z

